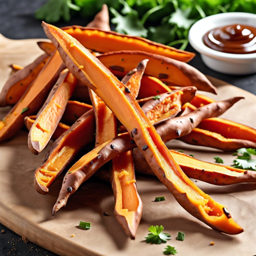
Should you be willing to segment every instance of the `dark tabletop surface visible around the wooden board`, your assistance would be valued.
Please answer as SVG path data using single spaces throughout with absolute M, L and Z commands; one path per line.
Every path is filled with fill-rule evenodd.
M 47 0 L 0 0 L 0 33 L 10 39 L 46 38 L 41 27 L 41 22 L 33 17 L 35 10 L 46 2 Z M 61 21 L 54 25 L 57 27 L 69 25 L 86 26 L 90 21 L 90 19 L 86 20 L 76 16 L 73 17 L 69 23 Z M 196 52 L 190 45 L 186 50 Z M 228 76 L 220 74 L 207 68 L 198 53 L 189 64 L 206 75 L 219 78 L 256 95 L 256 74 L 247 76 Z M 5 233 L 0 233 L 0 256 L 57 255 L 31 242 L 25 243 L 20 236 L 0 223 L 0 231 L 2 229 Z

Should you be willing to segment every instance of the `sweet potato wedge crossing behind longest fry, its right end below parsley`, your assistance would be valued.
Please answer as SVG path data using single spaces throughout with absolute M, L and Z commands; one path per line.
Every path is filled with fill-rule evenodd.
M 201 180 L 213 185 L 232 185 L 243 182 L 256 182 L 256 173 L 253 171 L 232 168 L 200 161 L 192 156 L 170 150 L 173 158 L 190 178 Z M 137 150 L 134 150 L 134 164 L 136 171 L 154 175 L 146 160 Z

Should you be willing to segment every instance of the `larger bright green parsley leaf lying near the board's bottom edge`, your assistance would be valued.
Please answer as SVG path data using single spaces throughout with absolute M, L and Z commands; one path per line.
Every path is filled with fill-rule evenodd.
M 146 242 L 155 244 L 166 243 L 167 240 L 171 239 L 171 236 L 168 233 L 162 233 L 163 230 L 164 227 L 162 225 L 160 227 L 158 227 L 158 225 L 150 226 L 148 228 L 148 231 L 150 231 L 151 233 L 149 233 L 148 236 L 145 237 Z

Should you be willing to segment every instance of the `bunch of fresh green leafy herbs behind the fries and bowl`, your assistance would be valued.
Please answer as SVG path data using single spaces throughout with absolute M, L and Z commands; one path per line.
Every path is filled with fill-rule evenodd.
M 54 23 L 68 22 L 76 12 L 90 19 L 102 4 L 110 9 L 112 24 L 120 33 L 141 36 L 169 46 L 188 44 L 188 31 L 197 20 L 223 12 L 256 10 L 255 0 L 48 0 L 35 17 Z

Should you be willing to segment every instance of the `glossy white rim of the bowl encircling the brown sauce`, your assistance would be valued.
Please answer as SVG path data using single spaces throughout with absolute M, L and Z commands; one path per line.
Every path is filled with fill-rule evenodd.
M 189 34 L 188 34 L 188 39 L 189 39 L 190 45 L 195 50 L 200 52 L 201 54 L 207 55 L 212 58 L 218 58 L 218 59 L 230 60 L 230 61 L 234 60 L 234 59 L 254 60 L 256 58 L 256 53 L 231 54 L 231 53 L 213 50 L 204 44 L 204 42 L 202 40 L 202 37 L 204 36 L 204 34 L 212 28 L 221 27 L 221 25 L 218 24 L 216 26 L 209 27 L 209 29 L 205 31 L 205 30 L 200 29 L 201 24 L 211 23 L 214 20 L 217 20 L 217 19 L 220 20 L 222 18 L 236 18 L 236 19 L 237 18 L 251 18 L 251 19 L 255 19 L 255 24 L 256 24 L 256 14 L 253 14 L 253 13 L 230 12 L 230 13 L 218 13 L 218 14 L 210 15 L 210 16 L 207 16 L 205 18 L 198 20 L 195 24 L 193 24 L 191 26 L 191 28 L 189 30 Z M 235 24 L 235 23 L 238 23 L 238 22 L 234 21 L 233 24 Z M 232 21 L 229 24 L 232 25 Z M 227 24 L 227 25 L 229 25 L 229 24 Z M 253 26 L 253 24 L 250 24 L 250 25 Z M 226 24 L 223 24 L 223 26 L 226 26 Z

